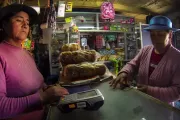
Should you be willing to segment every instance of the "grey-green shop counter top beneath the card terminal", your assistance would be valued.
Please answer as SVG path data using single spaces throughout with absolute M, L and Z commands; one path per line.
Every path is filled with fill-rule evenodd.
M 180 120 L 178 109 L 135 89 L 112 89 L 108 82 L 82 87 L 89 88 L 99 89 L 104 96 L 104 105 L 99 110 L 61 113 L 56 105 L 51 105 L 46 120 Z

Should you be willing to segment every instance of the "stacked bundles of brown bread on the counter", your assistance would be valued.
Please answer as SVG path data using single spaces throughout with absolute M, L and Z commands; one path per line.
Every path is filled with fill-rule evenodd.
M 63 65 L 63 76 L 69 80 L 102 76 L 106 72 L 104 64 L 95 62 L 95 50 L 81 50 L 79 45 L 73 43 L 62 46 L 61 51 L 60 62 Z

